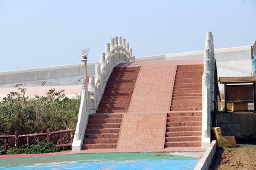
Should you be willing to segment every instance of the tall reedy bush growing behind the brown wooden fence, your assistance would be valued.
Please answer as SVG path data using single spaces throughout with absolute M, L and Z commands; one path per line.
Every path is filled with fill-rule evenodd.
M 20 91 L 10 92 L 0 102 L 0 135 L 45 133 L 48 128 L 58 131 L 76 127 L 80 95 L 69 99 L 64 90 L 51 89 L 47 96 L 29 98 L 25 95 L 26 88 Z

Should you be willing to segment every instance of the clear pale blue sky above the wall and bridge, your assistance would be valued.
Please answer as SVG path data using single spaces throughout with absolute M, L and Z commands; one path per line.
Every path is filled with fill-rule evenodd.
M 99 61 L 122 36 L 135 57 L 256 40 L 256 0 L 0 0 L 0 72 Z

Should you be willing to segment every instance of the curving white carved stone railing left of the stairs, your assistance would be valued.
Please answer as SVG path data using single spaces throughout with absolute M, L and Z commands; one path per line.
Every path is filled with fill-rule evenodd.
M 111 38 L 110 43 L 105 44 L 105 53 L 100 54 L 99 64 L 95 65 L 95 77 L 89 78 L 89 84 L 86 79 L 82 80 L 81 105 L 72 150 L 81 150 L 89 114 L 96 113 L 113 67 L 125 62 L 135 62 L 129 43 L 122 37 Z

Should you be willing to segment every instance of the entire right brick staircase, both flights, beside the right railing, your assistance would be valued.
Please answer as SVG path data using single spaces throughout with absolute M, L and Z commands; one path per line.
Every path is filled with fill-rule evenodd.
M 177 65 L 165 147 L 201 147 L 203 65 Z

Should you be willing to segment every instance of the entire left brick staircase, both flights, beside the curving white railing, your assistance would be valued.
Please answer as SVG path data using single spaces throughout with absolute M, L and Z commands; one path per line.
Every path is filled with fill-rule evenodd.
M 122 113 L 128 111 L 140 67 L 114 67 L 95 114 L 89 115 L 82 149 L 116 148 Z

